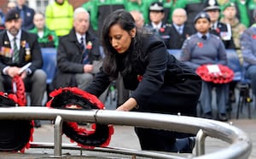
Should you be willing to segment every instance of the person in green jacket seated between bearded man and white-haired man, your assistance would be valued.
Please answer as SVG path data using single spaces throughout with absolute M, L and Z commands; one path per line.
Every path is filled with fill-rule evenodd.
M 44 23 L 44 14 L 36 13 L 33 18 L 35 27 L 30 32 L 38 34 L 38 43 L 41 48 L 58 48 L 59 38 L 55 31 L 50 31 Z

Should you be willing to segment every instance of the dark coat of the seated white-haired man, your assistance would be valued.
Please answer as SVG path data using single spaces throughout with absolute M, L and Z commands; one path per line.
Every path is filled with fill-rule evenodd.
M 93 60 L 100 60 L 102 56 L 98 38 L 90 32 L 86 32 L 86 43 L 89 41 L 92 43 L 92 48 L 87 51 L 89 51 L 89 60 L 92 64 Z M 76 86 L 74 75 L 84 73 L 82 56 L 82 48 L 73 29 L 67 36 L 60 38 L 57 49 L 57 72 L 53 80 L 54 88 Z

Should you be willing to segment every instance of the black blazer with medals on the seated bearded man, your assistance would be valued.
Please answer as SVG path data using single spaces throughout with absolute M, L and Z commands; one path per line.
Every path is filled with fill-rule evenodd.
M 7 31 L 2 31 L 0 33 L 0 47 L 11 48 Z M 30 54 L 26 52 L 27 49 L 29 49 Z M 19 55 L 20 58 L 18 63 L 13 63 L 12 57 L 3 54 L 0 55 L 1 72 L 3 72 L 3 69 L 8 65 L 22 67 L 27 63 L 32 62 L 32 65 L 29 67 L 32 72 L 36 69 L 40 69 L 43 66 L 43 57 L 38 44 L 37 35 L 24 30 L 21 31 Z

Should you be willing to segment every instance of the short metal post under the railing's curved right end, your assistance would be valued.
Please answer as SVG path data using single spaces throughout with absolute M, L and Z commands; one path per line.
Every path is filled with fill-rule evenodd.
M 195 155 L 196 156 L 201 156 L 205 155 L 205 141 L 206 141 L 207 135 L 206 133 L 203 132 L 202 129 L 198 131 L 196 134 L 196 139 L 195 139 Z

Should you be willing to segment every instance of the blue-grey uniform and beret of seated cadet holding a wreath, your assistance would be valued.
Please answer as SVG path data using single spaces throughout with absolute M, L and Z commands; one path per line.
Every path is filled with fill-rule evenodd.
M 198 19 L 206 18 L 210 21 L 206 13 L 200 13 L 195 17 L 195 22 Z M 206 64 L 227 64 L 227 56 L 224 48 L 224 43 L 219 37 L 207 32 L 206 39 L 200 32 L 195 33 L 183 43 L 181 60 L 193 69 L 197 69 L 201 65 Z M 217 60 L 218 59 L 218 60 Z M 212 118 L 212 88 L 216 88 L 218 101 L 218 117 L 221 121 L 226 121 L 226 94 L 228 84 L 214 84 L 213 82 L 202 82 L 201 90 L 201 106 L 204 117 Z

